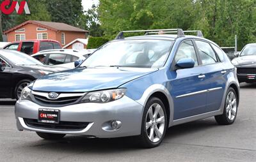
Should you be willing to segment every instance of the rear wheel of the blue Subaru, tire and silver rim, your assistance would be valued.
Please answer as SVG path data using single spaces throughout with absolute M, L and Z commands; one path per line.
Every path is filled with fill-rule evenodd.
M 216 122 L 220 125 L 233 124 L 237 116 L 237 94 L 236 91 L 230 87 L 226 94 L 225 106 L 223 114 L 215 116 Z

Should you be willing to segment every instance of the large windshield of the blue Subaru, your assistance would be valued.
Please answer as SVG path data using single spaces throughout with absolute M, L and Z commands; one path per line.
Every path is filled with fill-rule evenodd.
M 113 41 L 90 55 L 81 66 L 160 68 L 164 66 L 172 44 L 169 40 Z

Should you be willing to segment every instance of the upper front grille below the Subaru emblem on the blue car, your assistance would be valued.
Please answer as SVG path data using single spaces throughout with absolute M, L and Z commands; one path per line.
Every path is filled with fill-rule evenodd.
M 47 105 L 68 105 L 70 103 L 76 102 L 77 99 L 81 98 L 81 96 L 71 96 L 71 97 L 58 98 L 58 99 L 48 99 L 44 96 L 39 96 L 36 94 L 34 94 L 34 97 L 37 101 L 40 101 L 40 103 L 44 103 Z

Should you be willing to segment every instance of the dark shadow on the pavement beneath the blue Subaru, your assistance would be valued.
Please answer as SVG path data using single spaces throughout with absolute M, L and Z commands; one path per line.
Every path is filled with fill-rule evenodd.
M 169 128 L 166 132 L 164 140 L 174 138 L 175 136 L 188 135 L 189 133 L 196 133 L 196 131 L 205 130 L 207 128 L 214 128 L 218 126 L 212 119 L 189 122 L 180 126 Z M 38 137 L 38 139 L 40 139 Z M 124 138 L 86 138 L 86 136 L 65 136 L 62 140 L 49 141 L 38 140 L 31 142 L 29 147 L 38 149 L 47 149 L 52 152 L 60 151 L 60 148 L 67 152 L 122 152 L 134 151 L 141 148 L 134 136 Z

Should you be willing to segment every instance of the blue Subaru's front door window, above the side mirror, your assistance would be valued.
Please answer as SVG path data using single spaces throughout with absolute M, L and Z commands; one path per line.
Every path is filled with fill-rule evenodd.
M 180 59 L 190 58 L 195 61 L 195 66 L 198 66 L 198 61 L 196 58 L 196 52 L 191 40 L 184 41 L 180 44 L 179 50 L 175 55 L 175 62 L 179 61 Z

